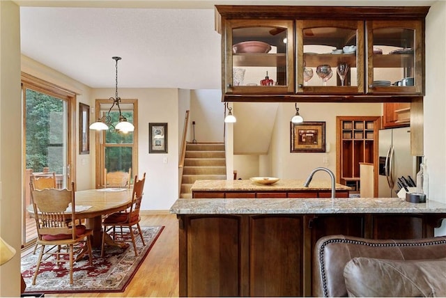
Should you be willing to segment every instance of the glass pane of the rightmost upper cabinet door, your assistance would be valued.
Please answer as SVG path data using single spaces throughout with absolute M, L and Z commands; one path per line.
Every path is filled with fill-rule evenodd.
M 415 30 L 374 29 L 374 87 L 414 86 Z

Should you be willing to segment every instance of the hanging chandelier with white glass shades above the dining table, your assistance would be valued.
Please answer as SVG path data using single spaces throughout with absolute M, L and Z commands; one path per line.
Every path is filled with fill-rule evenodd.
M 122 132 L 123 134 L 127 134 L 128 132 L 134 131 L 134 126 L 132 123 L 128 122 L 127 118 L 123 116 L 121 113 L 121 107 L 119 107 L 119 102 L 121 102 L 121 97 L 118 96 L 118 61 L 121 60 L 121 57 L 112 57 L 114 61 L 116 61 L 116 93 L 115 97 L 110 97 L 109 100 L 113 100 L 112 107 L 110 107 L 107 115 L 99 118 L 95 123 L 90 125 L 91 130 L 108 130 L 109 126 L 114 127 L 114 130 L 117 132 Z M 112 111 L 113 107 L 118 107 L 119 110 L 119 122 L 114 126 L 112 124 L 112 117 L 110 116 L 110 111 Z

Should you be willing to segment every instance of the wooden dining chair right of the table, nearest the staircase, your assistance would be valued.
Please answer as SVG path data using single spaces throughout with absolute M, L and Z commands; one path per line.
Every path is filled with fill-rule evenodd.
M 144 182 L 146 181 L 146 173 L 144 173 L 143 178 L 138 180 L 138 176 L 134 176 L 133 182 L 133 191 L 132 191 L 132 205 L 125 212 L 116 212 L 110 214 L 105 217 L 102 221 L 103 233 L 102 233 L 102 247 L 101 247 L 101 256 L 104 256 L 104 247 L 106 240 L 106 233 L 111 232 L 113 240 L 117 240 L 117 236 L 120 235 L 120 239 L 123 241 L 128 241 L 128 237 L 130 235 L 130 239 L 133 244 L 134 255 L 138 256 L 137 252 L 137 244 L 134 240 L 134 232 L 137 233 L 141 237 L 141 242 L 145 246 L 144 238 L 142 237 L 141 226 L 139 226 L 139 221 L 141 221 L 141 217 L 139 216 L 139 209 L 141 207 L 141 200 L 144 191 Z M 116 228 L 121 230 L 121 233 L 116 232 Z M 126 229 L 123 233 L 123 229 Z

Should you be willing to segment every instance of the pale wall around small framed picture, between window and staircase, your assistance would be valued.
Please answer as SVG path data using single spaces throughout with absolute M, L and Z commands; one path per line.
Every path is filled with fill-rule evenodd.
M 146 173 L 141 210 L 169 210 L 178 199 L 178 89 L 119 88 L 118 91 L 122 99 L 138 100 L 138 173 L 133 174 Z M 112 88 L 96 88 L 91 96 L 95 100 L 113 94 Z M 148 153 L 148 123 L 167 123 L 167 153 Z

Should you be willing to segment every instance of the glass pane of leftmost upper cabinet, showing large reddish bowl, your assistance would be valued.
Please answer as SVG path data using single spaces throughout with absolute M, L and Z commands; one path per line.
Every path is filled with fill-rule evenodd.
M 288 29 L 252 26 L 232 30 L 233 86 L 285 86 Z

